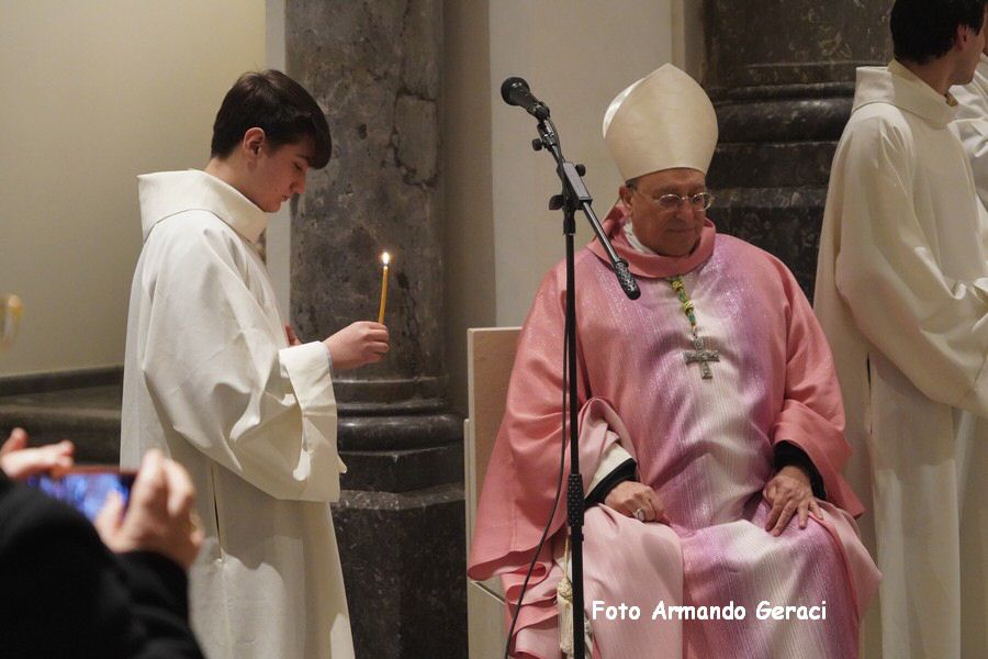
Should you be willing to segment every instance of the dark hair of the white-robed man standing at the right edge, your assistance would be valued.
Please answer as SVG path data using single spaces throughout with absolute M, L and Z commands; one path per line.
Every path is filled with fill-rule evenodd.
M 954 46 L 957 27 L 981 31 L 986 0 L 896 0 L 890 27 L 896 59 L 925 64 Z

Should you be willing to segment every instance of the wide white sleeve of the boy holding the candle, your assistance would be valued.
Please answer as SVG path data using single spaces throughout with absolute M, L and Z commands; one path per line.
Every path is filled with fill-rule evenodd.
M 278 499 L 335 501 L 337 405 L 325 345 L 285 347 L 228 236 L 195 232 L 157 255 L 143 350 L 166 426 Z

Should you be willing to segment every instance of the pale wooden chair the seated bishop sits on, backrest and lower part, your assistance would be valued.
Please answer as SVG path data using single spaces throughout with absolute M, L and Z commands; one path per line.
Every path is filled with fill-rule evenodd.
M 469 417 L 463 422 L 467 496 L 467 554 L 473 538 L 476 500 L 504 416 L 505 398 L 520 327 L 467 331 Z M 471 659 L 504 654 L 504 593 L 501 579 L 467 580 L 467 628 Z

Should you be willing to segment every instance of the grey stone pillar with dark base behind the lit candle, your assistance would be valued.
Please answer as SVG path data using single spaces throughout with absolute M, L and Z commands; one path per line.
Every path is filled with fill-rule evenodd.
M 348 466 L 334 506 L 358 657 L 465 657 L 462 421 L 447 412 L 438 194 L 440 0 L 289 0 L 288 74 L 333 158 L 292 209 L 291 315 L 323 338 L 375 320 L 386 359 L 334 379 Z

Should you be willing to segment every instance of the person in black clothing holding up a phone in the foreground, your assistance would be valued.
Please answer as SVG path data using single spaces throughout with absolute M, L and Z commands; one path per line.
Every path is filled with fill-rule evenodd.
M 150 451 L 127 512 L 111 499 L 94 527 L 11 480 L 67 469 L 71 445 L 25 444 L 15 431 L 0 450 L 0 657 L 202 658 L 187 577 L 202 532 L 184 470 Z

